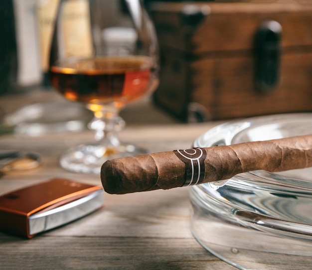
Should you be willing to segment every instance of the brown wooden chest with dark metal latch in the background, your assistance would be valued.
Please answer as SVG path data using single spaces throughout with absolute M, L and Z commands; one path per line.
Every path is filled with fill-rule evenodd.
M 158 2 L 155 103 L 186 122 L 312 111 L 312 1 Z

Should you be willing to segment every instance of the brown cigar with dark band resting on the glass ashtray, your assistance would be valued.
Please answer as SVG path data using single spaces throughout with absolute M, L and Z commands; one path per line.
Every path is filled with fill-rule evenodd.
M 106 161 L 104 190 L 125 194 L 230 179 L 253 170 L 312 166 L 312 135 L 158 152 Z

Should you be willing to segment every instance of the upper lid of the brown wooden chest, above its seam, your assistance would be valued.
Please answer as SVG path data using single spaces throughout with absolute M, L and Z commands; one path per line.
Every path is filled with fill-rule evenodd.
M 158 2 L 151 5 L 151 14 L 164 49 L 192 53 L 250 50 L 257 29 L 274 20 L 282 26 L 281 47 L 312 50 L 312 1 Z

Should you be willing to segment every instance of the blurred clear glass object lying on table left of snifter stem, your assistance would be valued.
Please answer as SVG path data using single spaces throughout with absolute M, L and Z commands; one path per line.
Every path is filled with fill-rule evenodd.
M 36 136 L 81 131 L 91 119 L 92 113 L 83 104 L 53 101 L 26 105 L 5 116 L 3 124 L 12 127 L 13 133 Z

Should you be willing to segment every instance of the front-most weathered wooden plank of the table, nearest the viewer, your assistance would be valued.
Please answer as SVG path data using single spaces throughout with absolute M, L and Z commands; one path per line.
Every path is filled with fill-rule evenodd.
M 0 269 L 189 270 L 235 268 L 194 239 L 49 237 L 29 241 L 0 235 Z

